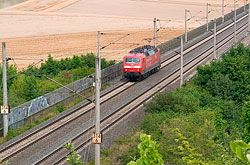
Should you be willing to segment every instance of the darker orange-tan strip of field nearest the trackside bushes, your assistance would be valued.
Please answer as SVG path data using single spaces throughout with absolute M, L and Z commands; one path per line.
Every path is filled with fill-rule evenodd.
M 157 44 L 183 32 L 183 30 L 162 29 L 157 33 Z M 129 50 L 153 44 L 152 39 L 151 29 L 104 32 L 101 35 L 101 47 L 109 46 L 101 50 L 101 56 L 107 60 L 121 61 Z M 37 63 L 40 59 L 46 60 L 48 54 L 60 59 L 90 52 L 97 53 L 97 33 L 94 32 L 0 40 L 3 41 L 6 42 L 7 57 L 14 59 L 10 63 L 16 63 L 19 70 L 30 63 Z M 114 43 L 111 44 L 112 42 Z

